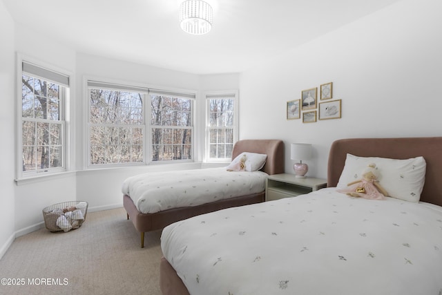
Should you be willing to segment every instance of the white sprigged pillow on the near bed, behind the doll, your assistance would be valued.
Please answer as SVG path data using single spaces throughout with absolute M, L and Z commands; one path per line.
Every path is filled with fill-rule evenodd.
M 368 164 L 376 164 L 379 171 L 379 184 L 392 198 L 409 202 L 419 202 L 425 182 L 427 163 L 423 157 L 406 160 L 358 157 L 347 153 L 343 173 L 336 185 L 338 189 L 347 187 L 349 182 L 360 180 Z

